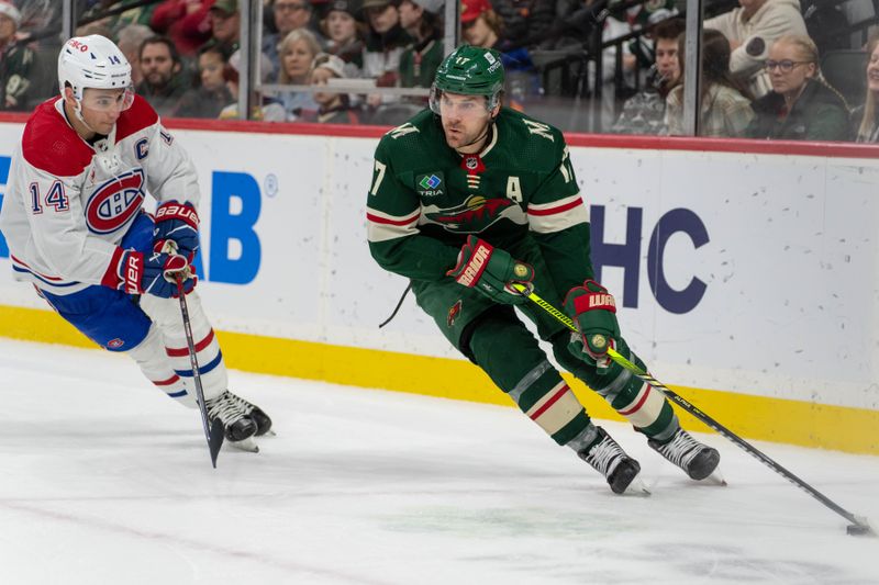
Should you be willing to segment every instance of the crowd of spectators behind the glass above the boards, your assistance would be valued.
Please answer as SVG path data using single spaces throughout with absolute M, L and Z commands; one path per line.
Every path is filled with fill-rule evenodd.
M 381 88 L 430 88 L 445 53 L 446 0 L 263 2 L 256 68 L 264 91 L 252 119 L 398 124 L 425 105 L 424 91 Z M 700 135 L 879 142 L 878 43 L 865 44 L 869 30 L 845 31 L 844 4 L 857 2 L 715 0 L 703 24 Z M 136 91 L 162 116 L 241 117 L 238 1 L 157 0 L 120 10 L 130 3 L 80 0 L 77 34 L 115 41 L 133 66 Z M 507 104 L 527 113 L 550 102 L 554 92 L 563 93 L 552 81 L 552 64 L 572 63 L 579 69 L 569 70 L 582 78 L 574 97 L 588 100 L 602 90 L 601 130 L 674 136 L 688 134 L 683 5 L 460 0 L 456 24 L 461 41 L 501 53 Z M 0 109 L 30 111 L 57 92 L 59 38 L 45 31 L 58 11 L 48 0 L 0 0 Z M 842 29 L 827 34 L 831 22 Z M 596 56 L 597 42 L 624 35 L 632 37 Z M 860 76 L 857 93 L 841 91 L 830 70 L 822 71 L 825 54 L 861 59 L 849 74 Z M 598 58 L 601 76 L 594 76 Z M 340 82 L 347 89 L 334 88 Z M 569 100 L 568 108 L 575 103 L 583 102 Z M 546 117 L 543 110 L 539 116 Z

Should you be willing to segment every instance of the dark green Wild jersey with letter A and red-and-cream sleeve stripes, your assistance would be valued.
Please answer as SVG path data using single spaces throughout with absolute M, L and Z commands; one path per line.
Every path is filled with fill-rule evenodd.
M 424 110 L 376 148 L 369 248 L 386 270 L 439 280 L 470 234 L 514 254 L 538 246 L 560 291 L 592 278 L 589 214 L 557 128 L 502 108 L 488 145 L 460 155 Z

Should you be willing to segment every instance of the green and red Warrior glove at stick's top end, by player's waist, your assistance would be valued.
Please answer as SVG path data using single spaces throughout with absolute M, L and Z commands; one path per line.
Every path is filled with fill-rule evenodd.
M 511 285 L 520 283 L 531 289 L 534 269 L 514 260 L 505 251 L 476 236 L 468 236 L 458 254 L 458 263 L 446 272 L 458 284 L 476 289 L 497 303 L 520 305 L 528 300 Z

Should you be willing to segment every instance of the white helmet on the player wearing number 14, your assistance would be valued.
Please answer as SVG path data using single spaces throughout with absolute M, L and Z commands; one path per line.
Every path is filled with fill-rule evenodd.
M 77 104 L 82 102 L 86 88 L 125 90 L 123 110 L 134 101 L 129 59 L 112 41 L 98 34 L 75 36 L 62 47 L 58 54 L 62 94 L 68 85 Z

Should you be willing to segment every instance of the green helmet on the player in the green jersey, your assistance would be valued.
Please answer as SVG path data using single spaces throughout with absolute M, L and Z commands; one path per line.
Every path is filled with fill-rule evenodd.
M 503 64 L 493 48 L 461 45 L 443 59 L 431 87 L 431 110 L 439 113 L 444 91 L 463 95 L 485 95 L 489 111 L 500 102 L 503 91 Z

